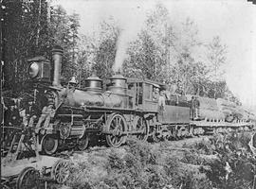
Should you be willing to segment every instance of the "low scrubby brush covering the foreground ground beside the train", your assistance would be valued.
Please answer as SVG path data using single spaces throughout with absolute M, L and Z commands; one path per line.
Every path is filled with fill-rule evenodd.
M 51 186 L 92 189 L 251 188 L 256 161 L 247 148 L 250 136 L 251 133 L 203 136 L 157 144 L 131 139 L 119 148 L 91 147 L 70 157 L 70 177 L 63 185 Z M 243 175 L 242 172 L 248 169 L 247 164 L 251 165 L 251 171 Z

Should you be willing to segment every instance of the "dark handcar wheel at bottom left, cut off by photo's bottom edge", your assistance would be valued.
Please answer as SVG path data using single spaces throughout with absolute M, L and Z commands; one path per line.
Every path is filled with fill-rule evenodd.
M 17 189 L 36 189 L 39 184 L 39 172 L 34 167 L 26 167 L 20 173 L 17 182 Z

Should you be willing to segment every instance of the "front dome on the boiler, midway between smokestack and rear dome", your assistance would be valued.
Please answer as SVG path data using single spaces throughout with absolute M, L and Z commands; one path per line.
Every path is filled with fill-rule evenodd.
M 90 92 L 101 92 L 102 91 L 102 80 L 96 75 L 87 77 L 85 79 L 85 90 Z

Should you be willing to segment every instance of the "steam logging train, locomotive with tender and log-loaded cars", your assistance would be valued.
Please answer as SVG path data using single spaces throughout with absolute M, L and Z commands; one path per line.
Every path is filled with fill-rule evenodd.
M 164 110 L 160 110 L 154 93 L 166 91 L 166 86 L 151 80 L 115 75 L 104 90 L 101 78 L 92 76 L 85 79 L 84 89 L 72 82 L 64 85 L 62 56 L 63 49 L 55 46 L 52 63 L 44 57 L 28 60 L 31 87 L 23 103 L 22 124 L 35 128 L 38 150 L 47 155 L 65 147 L 83 150 L 93 141 L 120 146 L 129 136 L 159 141 L 254 126 L 254 115 L 250 120 L 248 116 L 234 120 L 230 116 L 237 107 L 219 108 L 228 101 L 199 97 L 201 116 L 192 120 L 186 96 L 164 93 Z

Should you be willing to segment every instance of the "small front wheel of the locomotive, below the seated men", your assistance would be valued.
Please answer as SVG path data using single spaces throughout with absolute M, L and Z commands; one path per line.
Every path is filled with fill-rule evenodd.
M 52 135 L 46 135 L 43 138 L 43 149 L 47 155 L 52 155 L 57 151 L 58 139 L 55 139 Z

